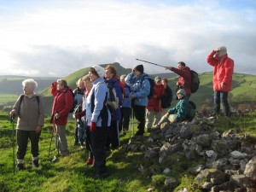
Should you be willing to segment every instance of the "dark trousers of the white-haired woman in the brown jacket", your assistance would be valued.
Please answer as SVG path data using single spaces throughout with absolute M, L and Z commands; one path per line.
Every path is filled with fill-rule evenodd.
M 36 131 L 23 131 L 17 130 L 17 144 L 18 144 L 18 151 L 17 151 L 17 159 L 24 160 L 26 154 L 26 148 L 28 139 L 31 143 L 31 153 L 33 157 L 38 156 L 38 143 L 41 131 L 36 133 Z

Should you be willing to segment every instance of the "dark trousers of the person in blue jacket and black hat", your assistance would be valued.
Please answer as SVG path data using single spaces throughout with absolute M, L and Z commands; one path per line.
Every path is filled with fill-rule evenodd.
M 133 106 L 133 113 L 137 119 L 137 129 L 140 132 L 144 132 L 145 127 L 145 116 L 146 116 L 146 107 L 140 105 Z

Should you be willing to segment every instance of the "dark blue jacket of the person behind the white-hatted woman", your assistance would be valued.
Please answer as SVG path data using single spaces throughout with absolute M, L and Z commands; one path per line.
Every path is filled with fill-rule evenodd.
M 114 113 L 111 116 L 112 120 L 120 120 L 121 119 L 121 110 L 120 107 L 123 104 L 123 94 L 122 94 L 122 90 L 119 84 L 119 80 L 112 78 L 112 79 L 105 79 L 105 83 L 108 85 L 109 89 L 114 89 L 116 92 L 116 96 L 119 98 L 119 108 L 117 108 Z

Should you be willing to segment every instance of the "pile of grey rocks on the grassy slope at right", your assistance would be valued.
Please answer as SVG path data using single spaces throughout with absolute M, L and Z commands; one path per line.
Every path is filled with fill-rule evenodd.
M 143 151 L 146 160 L 155 160 L 160 165 L 168 155 L 175 153 L 183 153 L 187 160 L 203 159 L 203 165 L 188 169 L 195 175 L 197 188 L 203 191 L 256 191 L 256 139 L 238 134 L 236 130 L 221 134 L 214 126 L 215 120 L 211 116 L 199 115 L 190 123 L 161 125 L 160 130 L 145 138 L 144 144 L 123 147 L 128 151 Z M 230 119 L 224 119 L 224 124 L 230 124 Z M 166 186 L 177 186 L 170 169 L 162 169 L 168 176 Z M 138 170 L 154 175 L 150 166 L 139 166 Z

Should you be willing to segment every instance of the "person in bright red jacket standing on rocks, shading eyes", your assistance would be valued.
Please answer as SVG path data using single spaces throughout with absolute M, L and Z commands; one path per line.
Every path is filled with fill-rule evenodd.
M 230 104 L 228 93 L 232 86 L 232 76 L 234 73 L 234 61 L 227 55 L 227 49 L 220 46 L 207 56 L 207 63 L 214 67 L 213 71 L 213 90 L 215 113 L 220 111 L 220 102 L 224 108 L 224 115 L 230 116 Z

